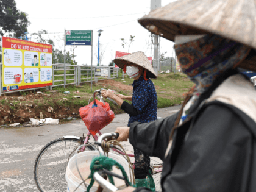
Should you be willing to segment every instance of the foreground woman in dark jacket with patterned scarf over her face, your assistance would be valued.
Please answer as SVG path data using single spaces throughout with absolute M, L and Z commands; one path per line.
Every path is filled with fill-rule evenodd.
M 256 1 L 180 0 L 139 23 L 175 42 L 195 87 L 176 115 L 118 127 L 118 140 L 163 160 L 162 191 L 256 191 L 256 90 L 239 73 L 256 71 Z

